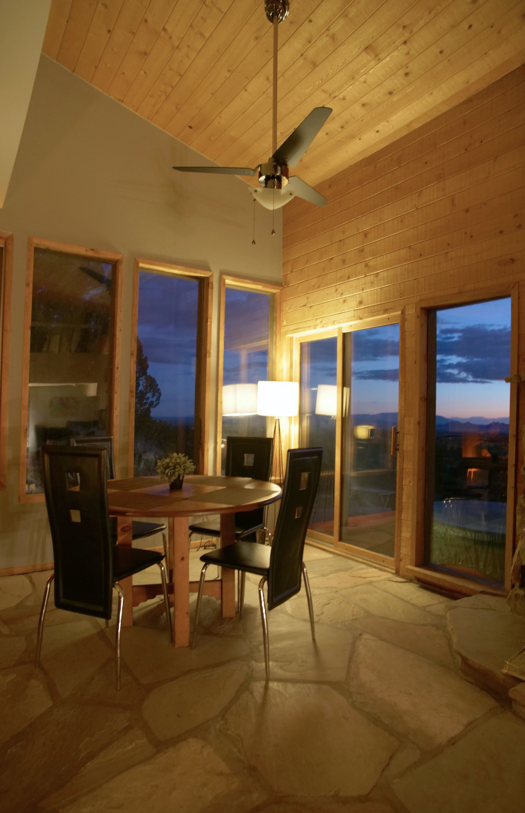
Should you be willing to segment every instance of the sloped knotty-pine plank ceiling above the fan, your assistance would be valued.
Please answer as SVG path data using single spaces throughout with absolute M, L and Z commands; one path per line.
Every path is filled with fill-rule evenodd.
M 264 0 L 53 0 L 43 52 L 222 166 L 271 153 Z M 316 185 L 524 62 L 525 0 L 291 0 L 278 143 L 333 108 L 295 171 Z

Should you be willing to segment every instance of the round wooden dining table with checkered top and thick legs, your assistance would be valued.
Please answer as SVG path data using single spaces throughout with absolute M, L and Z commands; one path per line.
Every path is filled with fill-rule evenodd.
M 235 541 L 235 511 L 252 511 L 281 497 L 281 488 L 249 477 L 191 475 L 184 478 L 180 491 L 170 491 L 160 477 L 129 477 L 108 480 L 109 513 L 117 517 L 119 545 L 131 546 L 132 517 L 167 517 L 169 550 L 169 591 L 173 593 L 173 633 L 175 646 L 190 644 L 190 592 L 199 588 L 190 582 L 189 518 L 202 514 L 221 515 L 221 547 Z M 221 579 L 208 581 L 204 593 L 221 599 L 223 618 L 235 615 L 235 573 L 225 570 Z M 124 590 L 122 623 L 133 624 L 133 606 L 161 593 L 161 585 L 133 585 L 133 578 L 121 582 Z

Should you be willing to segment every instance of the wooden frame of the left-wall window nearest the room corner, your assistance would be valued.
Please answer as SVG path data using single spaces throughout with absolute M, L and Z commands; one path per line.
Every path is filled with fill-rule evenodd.
M 225 303 L 226 288 L 231 285 L 233 288 L 244 288 L 258 293 L 273 293 L 273 347 L 272 363 L 269 363 L 268 374 L 278 375 L 278 351 L 280 349 L 280 315 L 282 285 L 272 285 L 269 282 L 249 280 L 240 276 L 221 274 L 221 284 L 219 293 L 219 359 L 217 363 L 217 443 L 216 443 L 216 474 L 221 474 L 221 441 L 222 441 L 222 381 L 224 379 L 224 327 L 225 327 Z M 269 379 L 273 380 L 273 379 Z M 283 447 L 284 448 L 284 447 Z M 275 455 L 273 455 L 275 463 Z

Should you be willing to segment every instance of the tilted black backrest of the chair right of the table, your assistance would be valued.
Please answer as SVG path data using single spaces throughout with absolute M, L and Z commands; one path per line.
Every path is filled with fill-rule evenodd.
M 290 449 L 269 560 L 268 609 L 301 589 L 304 538 L 321 476 L 322 449 Z

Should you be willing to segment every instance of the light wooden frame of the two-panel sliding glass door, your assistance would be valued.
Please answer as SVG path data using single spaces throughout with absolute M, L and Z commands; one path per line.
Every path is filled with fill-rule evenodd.
M 343 542 L 341 536 L 341 460 L 343 448 L 343 334 L 356 333 L 360 330 L 367 330 L 370 328 L 381 328 L 387 324 L 399 324 L 400 326 L 400 372 L 399 372 L 399 415 L 398 415 L 398 431 L 400 437 L 399 451 L 397 454 L 397 467 L 396 467 L 396 536 L 395 536 L 395 553 L 394 557 L 383 556 L 383 554 L 374 553 L 374 551 L 367 551 L 363 548 L 350 545 L 348 542 Z M 402 485 L 403 485 L 403 410 L 402 410 L 402 393 L 405 385 L 405 311 L 396 313 L 385 314 L 383 316 L 373 316 L 370 319 L 359 320 L 356 322 L 349 322 L 348 324 L 339 325 L 336 328 L 329 328 L 326 330 L 315 330 L 311 333 L 300 333 L 291 336 L 292 346 L 292 371 L 293 380 L 298 381 L 300 385 L 300 346 L 304 342 L 319 341 L 337 337 L 337 415 L 335 417 L 335 484 L 334 484 L 334 536 L 330 537 L 328 534 L 319 533 L 308 529 L 308 538 L 330 545 L 330 550 L 336 552 L 343 552 L 351 554 L 352 558 L 360 559 L 365 562 L 384 565 L 386 567 L 394 567 L 399 570 L 400 564 L 400 533 L 401 523 L 400 514 L 402 511 Z M 291 444 L 298 446 L 300 441 L 300 415 L 294 419 L 291 428 Z

